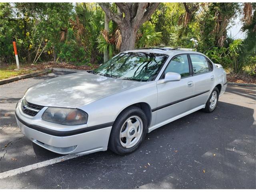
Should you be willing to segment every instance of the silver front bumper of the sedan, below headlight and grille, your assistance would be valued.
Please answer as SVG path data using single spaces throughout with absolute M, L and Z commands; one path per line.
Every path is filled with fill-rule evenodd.
M 35 144 L 52 152 L 58 154 L 89 154 L 92 152 L 104 151 L 108 148 L 108 139 L 112 128 L 111 126 L 69 136 L 54 136 L 30 128 L 27 124 L 25 125 L 24 122 L 29 122 L 29 124 L 38 124 L 38 120 L 37 118 L 33 120 L 33 118 L 29 116 L 27 117 L 26 114 L 23 114 L 20 110 L 19 104 L 17 105 L 15 114 L 17 124 L 22 133 Z M 40 127 L 42 127 L 42 122 Z M 48 128 L 45 129 L 47 130 Z M 51 129 L 51 131 L 52 130 L 54 130 L 54 128 Z

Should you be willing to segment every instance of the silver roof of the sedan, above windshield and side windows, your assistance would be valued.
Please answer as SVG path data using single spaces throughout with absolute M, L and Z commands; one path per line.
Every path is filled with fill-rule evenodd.
M 138 48 L 136 50 L 129 50 L 124 52 L 149 52 L 149 53 L 158 53 L 158 54 L 167 54 L 169 56 L 182 54 L 182 53 L 196 53 L 202 54 L 200 52 L 193 51 L 192 49 L 188 48 L 172 48 L 168 46 L 155 46 L 155 47 L 145 47 L 145 48 Z M 204 55 L 204 54 L 202 54 Z

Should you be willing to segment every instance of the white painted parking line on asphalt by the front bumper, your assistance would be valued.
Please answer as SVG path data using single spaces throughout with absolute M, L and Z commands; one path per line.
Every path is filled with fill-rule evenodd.
M 32 165 L 28 165 L 28 166 L 25 166 L 25 167 L 20 167 L 20 168 L 17 168 L 17 169 L 2 172 L 2 173 L 0 173 L 0 179 L 4 179 L 6 177 L 10 177 L 10 176 L 18 175 L 18 174 L 21 174 L 21 173 L 25 173 L 25 172 L 28 172 L 28 171 L 31 171 L 31 170 L 34 170 L 34 169 L 37 169 L 37 168 L 45 167 L 45 166 L 48 166 L 48 165 L 52 165 L 52 164 L 55 164 L 55 163 L 58 163 L 58 162 L 66 161 L 66 160 L 73 159 L 73 158 L 83 156 L 83 155 L 84 154 L 65 155 L 65 156 L 53 158 L 53 159 L 50 159 L 50 160 L 42 161 L 42 162 L 39 162 L 39 163 L 35 163 L 35 164 L 32 164 Z

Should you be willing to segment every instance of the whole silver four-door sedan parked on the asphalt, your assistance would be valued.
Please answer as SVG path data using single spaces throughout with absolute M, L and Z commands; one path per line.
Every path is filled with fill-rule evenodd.
M 197 110 L 212 112 L 226 73 L 199 52 L 121 52 L 96 70 L 38 83 L 17 103 L 22 133 L 59 154 L 129 154 L 146 133 Z

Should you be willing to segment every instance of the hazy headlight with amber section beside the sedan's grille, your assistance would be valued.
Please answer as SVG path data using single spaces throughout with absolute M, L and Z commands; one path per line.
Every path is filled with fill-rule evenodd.
M 80 125 L 87 123 L 88 114 L 80 109 L 48 107 L 42 119 L 64 125 Z

